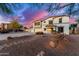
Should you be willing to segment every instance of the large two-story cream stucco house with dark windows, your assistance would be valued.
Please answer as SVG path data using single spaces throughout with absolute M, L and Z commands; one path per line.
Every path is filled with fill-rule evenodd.
M 43 21 L 35 21 L 33 24 L 34 32 L 42 31 L 52 33 L 53 31 L 69 34 L 69 16 L 52 16 Z

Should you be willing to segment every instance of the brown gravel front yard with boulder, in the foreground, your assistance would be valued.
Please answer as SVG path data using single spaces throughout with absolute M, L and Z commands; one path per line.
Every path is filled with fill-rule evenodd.
M 77 39 L 76 39 L 77 38 Z M 76 40 L 75 40 L 76 39 Z M 79 55 L 79 37 L 60 34 L 30 35 L 0 41 L 0 55 Z

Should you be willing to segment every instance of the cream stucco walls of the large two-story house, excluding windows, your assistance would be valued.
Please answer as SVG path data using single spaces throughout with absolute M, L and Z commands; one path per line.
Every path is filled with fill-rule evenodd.
M 62 23 L 59 23 L 59 19 L 62 18 Z M 46 25 L 49 25 L 49 20 L 52 20 L 53 23 L 52 25 L 55 25 L 57 27 L 63 27 L 64 31 L 63 33 L 65 34 L 69 34 L 69 17 L 68 16 L 61 16 L 61 17 L 51 17 L 51 18 L 48 18 L 48 19 L 45 19 L 44 21 L 41 22 L 41 25 L 39 26 L 35 26 L 33 24 L 33 31 L 34 32 L 38 32 L 38 31 L 42 31 L 44 33 L 49 33 L 50 32 L 50 29 L 47 30 L 47 27 Z M 54 30 L 56 29 L 56 31 L 58 31 L 58 28 L 54 28 Z M 46 30 L 44 30 L 44 28 L 46 28 Z

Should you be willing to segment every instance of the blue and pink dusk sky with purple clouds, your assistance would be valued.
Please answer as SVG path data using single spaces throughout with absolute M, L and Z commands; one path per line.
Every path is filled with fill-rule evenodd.
M 57 4 L 53 4 L 52 3 L 52 7 L 51 9 L 53 11 L 48 11 L 48 8 L 50 7 L 50 4 L 25 4 L 25 3 L 18 3 L 15 4 L 16 7 L 9 7 L 12 9 L 13 14 L 11 14 L 11 17 L 14 18 L 18 18 L 17 20 L 23 24 L 23 25 L 31 25 L 33 21 L 35 20 L 42 20 L 46 17 L 49 16 L 55 16 L 55 15 L 67 15 L 67 9 L 69 6 L 61 8 L 61 9 L 55 9 L 56 7 L 58 8 L 59 6 L 56 6 Z M 60 6 L 64 6 L 66 4 L 60 4 Z M 54 10 L 55 9 L 55 10 Z M 79 9 L 79 4 L 75 4 L 74 8 L 72 11 L 74 10 L 78 10 Z M 74 18 L 78 18 L 79 12 L 77 12 L 76 14 L 72 14 L 71 16 Z

